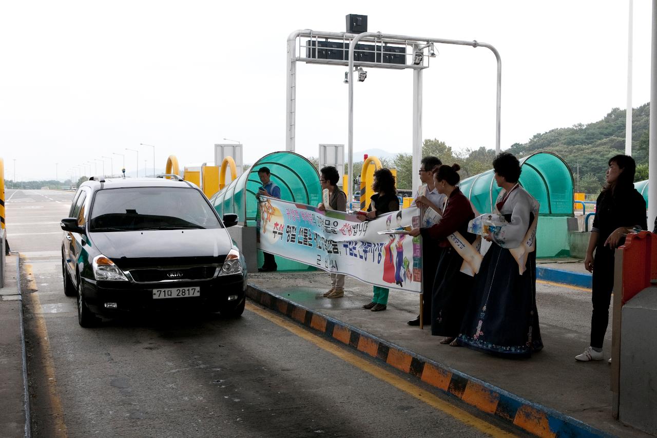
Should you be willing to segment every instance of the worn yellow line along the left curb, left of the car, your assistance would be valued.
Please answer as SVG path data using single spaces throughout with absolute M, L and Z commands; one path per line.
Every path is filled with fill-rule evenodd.
M 24 258 L 21 255 L 21 258 Z M 24 264 L 25 273 L 28 278 L 28 289 L 31 291 L 37 290 L 37 285 L 34 280 L 34 272 L 32 271 L 31 264 Z M 39 346 L 41 347 L 41 356 L 43 356 L 43 371 L 47 381 L 47 391 L 48 398 L 50 401 L 51 408 L 51 417 L 53 418 L 55 431 L 53 437 L 55 438 L 66 438 L 68 437 L 68 431 L 66 430 L 66 424 L 64 423 L 64 409 L 62 408 L 62 401 L 59 398 L 57 392 L 57 379 L 55 378 L 55 364 L 53 363 L 53 355 L 50 350 L 50 341 L 48 338 L 48 329 L 45 326 L 45 321 L 43 320 L 43 314 L 41 314 L 41 302 L 39 301 L 39 295 L 37 293 L 24 293 L 23 297 L 30 301 L 34 311 L 34 322 L 35 322 L 35 331 L 39 337 Z

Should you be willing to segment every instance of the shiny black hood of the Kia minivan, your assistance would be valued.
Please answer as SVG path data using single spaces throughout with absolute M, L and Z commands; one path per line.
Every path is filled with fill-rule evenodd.
M 120 268 L 216 264 L 233 248 L 225 228 L 89 233 L 95 249 Z

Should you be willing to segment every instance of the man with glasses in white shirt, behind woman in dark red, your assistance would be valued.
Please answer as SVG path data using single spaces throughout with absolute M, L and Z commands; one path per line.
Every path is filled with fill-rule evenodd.
M 440 166 L 442 161 L 438 157 L 424 157 L 420 161 L 420 181 L 422 185 L 418 187 L 413 203 L 420 207 L 421 215 L 427 208 L 436 210 L 438 214 L 443 213 L 443 206 L 445 205 L 445 195 L 438 193 L 434 187 L 434 174 L 433 170 Z M 436 276 L 436 269 L 438 268 L 438 258 L 435 256 L 436 251 L 432 248 L 432 241 L 429 239 L 422 239 L 422 314 L 424 321 L 430 323 L 431 321 L 431 296 L 434 293 L 434 277 Z M 410 320 L 407 323 L 409 326 L 419 326 L 420 316 Z

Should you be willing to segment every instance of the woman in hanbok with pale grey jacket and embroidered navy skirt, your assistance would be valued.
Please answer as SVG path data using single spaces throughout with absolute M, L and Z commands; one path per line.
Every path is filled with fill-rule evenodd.
M 543 348 L 536 308 L 535 228 L 539 205 L 518 184 L 520 162 L 509 153 L 493 160 L 502 187 L 495 214 L 507 224 L 484 239 L 492 242 L 463 318 L 459 343 L 507 357 L 526 357 Z

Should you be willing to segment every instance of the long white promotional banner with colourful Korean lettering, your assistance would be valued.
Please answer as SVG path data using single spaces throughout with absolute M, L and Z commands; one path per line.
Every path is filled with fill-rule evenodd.
M 320 211 L 260 197 L 260 249 L 390 289 L 420 291 L 421 237 L 379 233 L 420 226 L 417 207 L 361 221 L 357 214 Z

